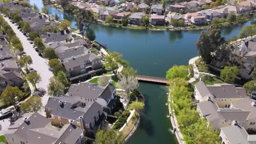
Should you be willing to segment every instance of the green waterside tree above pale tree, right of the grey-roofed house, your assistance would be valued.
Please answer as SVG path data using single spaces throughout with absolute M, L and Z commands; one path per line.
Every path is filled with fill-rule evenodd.
M 121 55 L 118 52 L 110 53 L 105 57 L 104 66 L 106 70 L 113 71 L 118 69 L 118 63 L 121 62 Z

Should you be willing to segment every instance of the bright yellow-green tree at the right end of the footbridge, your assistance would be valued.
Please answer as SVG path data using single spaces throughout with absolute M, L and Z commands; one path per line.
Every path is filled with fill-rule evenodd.
M 171 69 L 166 72 L 166 79 L 175 79 L 175 78 L 183 78 L 188 80 L 189 71 L 188 67 L 185 65 L 174 65 Z

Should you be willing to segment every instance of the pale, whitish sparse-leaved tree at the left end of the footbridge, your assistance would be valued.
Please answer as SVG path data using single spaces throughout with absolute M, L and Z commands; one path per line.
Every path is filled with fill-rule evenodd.
M 134 89 L 137 89 L 139 84 L 136 80 L 135 76 L 121 76 L 120 81 L 118 82 L 119 86 L 125 90 L 127 93 L 127 96 L 129 96 L 129 93 L 132 92 Z

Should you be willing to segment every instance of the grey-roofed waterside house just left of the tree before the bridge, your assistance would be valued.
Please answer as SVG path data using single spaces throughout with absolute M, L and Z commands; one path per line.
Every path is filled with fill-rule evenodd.
M 70 80 L 79 79 L 102 70 L 102 61 L 94 53 L 84 53 L 82 56 L 67 58 L 62 62 Z

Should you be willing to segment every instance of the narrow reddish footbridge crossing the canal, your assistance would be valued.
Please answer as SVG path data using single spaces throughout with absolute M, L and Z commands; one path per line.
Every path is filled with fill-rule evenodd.
M 152 82 L 152 83 L 161 83 L 167 85 L 168 80 L 162 77 L 153 77 L 153 76 L 144 76 L 144 75 L 137 75 L 136 79 L 138 81 L 143 82 Z

